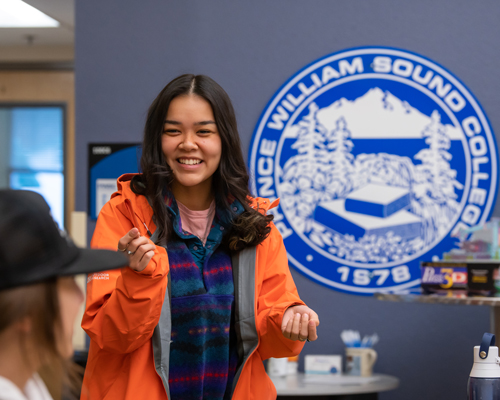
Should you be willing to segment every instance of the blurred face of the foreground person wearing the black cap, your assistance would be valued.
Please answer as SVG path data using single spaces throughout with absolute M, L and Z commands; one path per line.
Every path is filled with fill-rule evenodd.
M 69 358 L 73 354 L 73 327 L 84 297 L 72 276 L 57 280 L 57 294 L 62 324 L 62 338 L 58 338 L 59 351 L 63 357 Z

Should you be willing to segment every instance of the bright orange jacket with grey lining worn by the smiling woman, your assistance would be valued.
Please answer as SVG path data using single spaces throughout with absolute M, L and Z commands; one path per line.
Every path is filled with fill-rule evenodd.
M 131 191 L 131 178 L 132 175 L 128 174 L 118 179 L 118 191 L 102 208 L 92 238 L 93 248 L 116 249 L 118 240 L 134 226 L 146 237 L 149 237 L 148 229 L 155 231 L 153 210 L 144 196 L 137 196 Z M 265 210 L 274 206 L 267 199 L 255 201 Z M 247 250 L 241 253 L 245 252 L 248 253 Z M 297 294 L 283 240 L 274 224 L 271 224 L 271 233 L 255 248 L 254 254 L 254 282 L 248 284 L 244 273 L 234 282 L 236 315 L 242 304 L 250 304 L 250 310 L 247 307 L 247 311 L 241 311 L 240 320 L 236 319 L 238 339 L 246 352 L 244 364 L 235 377 L 232 398 L 237 400 L 275 399 L 276 389 L 264 370 L 262 360 L 297 355 L 303 347 L 302 342 L 286 339 L 281 333 L 285 310 L 304 303 Z M 239 262 L 238 258 L 233 260 Z M 82 327 L 91 342 L 82 400 L 169 398 L 168 380 L 160 377 L 165 375 L 163 368 L 168 371 L 168 365 L 160 365 L 158 360 L 161 354 L 158 354 L 158 349 L 153 350 L 158 333 L 155 332 L 153 337 L 155 327 L 162 307 L 164 312 L 168 307 L 168 301 L 166 306 L 163 305 L 164 300 L 168 300 L 165 296 L 168 272 L 167 252 L 158 245 L 155 255 L 141 272 L 125 267 L 88 277 Z M 249 290 L 252 287 L 254 289 Z M 248 293 L 250 291 L 254 293 Z M 243 335 L 252 337 L 252 329 L 255 340 L 254 344 L 249 344 L 248 336 Z M 164 349 L 164 337 L 160 351 Z

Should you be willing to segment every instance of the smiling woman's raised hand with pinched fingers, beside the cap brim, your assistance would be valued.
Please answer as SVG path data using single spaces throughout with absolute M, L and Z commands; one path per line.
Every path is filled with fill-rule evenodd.
M 137 228 L 132 228 L 118 241 L 118 250 L 128 257 L 128 266 L 137 272 L 147 267 L 155 254 L 155 248 L 150 240 L 141 236 Z

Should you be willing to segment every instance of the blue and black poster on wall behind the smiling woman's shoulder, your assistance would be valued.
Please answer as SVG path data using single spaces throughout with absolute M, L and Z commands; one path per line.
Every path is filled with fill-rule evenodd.
M 89 144 L 89 212 L 97 219 L 99 211 L 116 192 L 120 175 L 139 172 L 139 143 Z

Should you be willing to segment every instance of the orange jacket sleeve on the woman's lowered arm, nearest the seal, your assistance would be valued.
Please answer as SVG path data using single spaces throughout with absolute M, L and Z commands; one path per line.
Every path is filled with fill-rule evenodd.
M 259 270 L 263 268 L 262 281 L 258 279 L 260 288 L 257 287 L 259 353 L 263 360 L 297 355 L 304 343 L 285 338 L 281 332 L 281 322 L 288 307 L 304 305 L 304 302 L 300 300 L 288 268 L 283 238 L 272 223 L 271 233 L 257 247 L 257 267 Z

